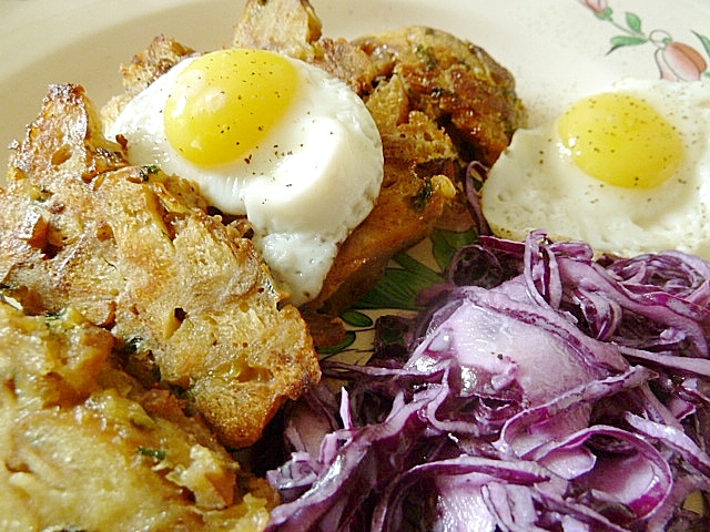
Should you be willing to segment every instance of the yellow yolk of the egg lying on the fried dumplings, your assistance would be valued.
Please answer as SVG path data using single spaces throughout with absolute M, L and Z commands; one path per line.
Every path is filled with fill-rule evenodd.
M 265 50 L 221 50 L 195 59 L 176 79 L 163 120 L 172 146 L 186 160 L 214 166 L 250 151 L 286 114 L 298 71 Z

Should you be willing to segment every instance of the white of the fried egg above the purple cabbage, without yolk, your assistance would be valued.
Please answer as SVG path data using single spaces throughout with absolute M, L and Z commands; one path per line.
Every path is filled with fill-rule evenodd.
M 615 186 L 574 163 L 557 121 L 519 130 L 480 191 L 490 228 L 513 239 L 542 228 L 621 256 L 678 249 L 710 259 L 710 83 L 625 79 L 612 90 L 646 100 L 676 127 L 684 147 L 676 174 L 650 190 Z

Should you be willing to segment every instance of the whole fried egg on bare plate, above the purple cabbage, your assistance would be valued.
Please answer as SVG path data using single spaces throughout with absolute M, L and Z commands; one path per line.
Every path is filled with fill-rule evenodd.
M 541 228 L 620 256 L 710 258 L 710 83 L 625 79 L 585 98 L 517 131 L 480 195 L 506 238 Z

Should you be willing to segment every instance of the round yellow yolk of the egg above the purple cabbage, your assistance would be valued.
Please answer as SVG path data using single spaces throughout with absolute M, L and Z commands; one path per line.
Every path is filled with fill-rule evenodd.
M 630 94 L 581 100 L 560 116 L 558 132 L 575 164 L 597 180 L 652 188 L 678 170 L 678 131 L 651 105 Z

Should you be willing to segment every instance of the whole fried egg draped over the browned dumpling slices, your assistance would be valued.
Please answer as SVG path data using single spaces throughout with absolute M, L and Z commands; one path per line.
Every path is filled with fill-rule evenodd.
M 192 180 L 246 216 L 280 288 L 317 296 L 338 245 L 372 211 L 382 140 L 361 98 L 323 70 L 263 50 L 187 58 L 108 129 L 134 165 Z

